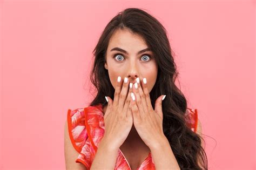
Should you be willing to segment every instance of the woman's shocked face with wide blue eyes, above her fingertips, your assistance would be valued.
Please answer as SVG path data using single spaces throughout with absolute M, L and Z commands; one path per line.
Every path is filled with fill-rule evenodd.
M 137 77 L 139 77 L 140 82 L 143 82 L 143 78 L 146 78 L 149 92 L 153 89 L 158 70 L 153 52 L 144 51 L 139 53 L 147 47 L 144 39 L 139 35 L 134 35 L 127 30 L 114 32 L 107 47 L 105 63 L 105 69 L 109 72 L 114 89 L 116 89 L 118 76 L 121 76 L 122 79 L 127 77 L 130 83 L 133 84 L 136 83 Z

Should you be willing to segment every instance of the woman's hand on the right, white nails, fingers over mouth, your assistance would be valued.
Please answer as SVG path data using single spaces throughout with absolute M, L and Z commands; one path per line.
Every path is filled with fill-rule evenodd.
M 165 95 L 157 98 L 153 110 L 147 84 L 140 83 L 139 78 L 136 81 L 137 85 L 135 83 L 132 87 L 135 100 L 131 99 L 133 124 L 140 138 L 149 148 L 157 147 L 161 141 L 166 140 L 163 132 L 162 111 L 162 98 Z M 137 89 L 136 86 L 138 86 Z

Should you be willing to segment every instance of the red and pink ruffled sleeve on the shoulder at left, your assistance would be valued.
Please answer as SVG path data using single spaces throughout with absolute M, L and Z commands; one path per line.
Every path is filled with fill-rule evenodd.
M 79 152 L 77 163 L 82 163 L 87 169 L 91 165 L 91 147 L 85 126 L 84 108 L 68 110 L 68 130 L 73 147 Z

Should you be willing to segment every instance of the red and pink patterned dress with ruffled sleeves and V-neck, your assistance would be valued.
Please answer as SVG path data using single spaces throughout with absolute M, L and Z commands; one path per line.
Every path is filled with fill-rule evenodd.
M 85 108 L 76 108 L 68 110 L 68 130 L 69 137 L 73 147 L 79 153 L 76 159 L 77 163 L 82 163 L 87 169 L 90 169 L 95 157 L 100 140 L 104 135 L 104 114 L 103 105 L 88 106 Z M 187 108 L 185 120 L 188 127 L 193 132 L 197 131 L 198 113 L 197 109 Z M 116 165 L 117 169 L 131 170 L 124 154 L 118 149 Z M 145 158 L 142 165 L 137 170 L 155 169 L 151 152 Z

